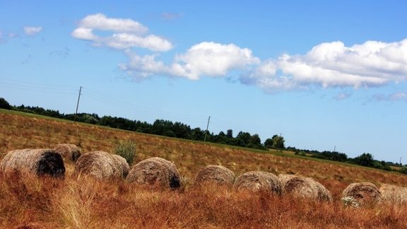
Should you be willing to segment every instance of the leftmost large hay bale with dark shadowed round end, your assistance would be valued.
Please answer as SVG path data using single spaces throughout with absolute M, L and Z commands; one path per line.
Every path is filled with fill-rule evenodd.
M 49 148 L 22 149 L 10 151 L 1 160 L 2 172 L 30 172 L 35 175 L 64 177 L 64 160 L 59 153 Z

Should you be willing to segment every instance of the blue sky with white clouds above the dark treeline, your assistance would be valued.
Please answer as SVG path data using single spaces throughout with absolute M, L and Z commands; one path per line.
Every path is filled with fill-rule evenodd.
M 0 97 L 407 163 L 406 1 L 0 1 Z

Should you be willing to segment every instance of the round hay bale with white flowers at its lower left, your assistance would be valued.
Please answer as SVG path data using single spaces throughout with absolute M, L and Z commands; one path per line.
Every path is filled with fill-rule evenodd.
M 374 204 L 382 198 L 376 185 L 370 182 L 349 184 L 342 192 L 342 198 L 352 196 L 360 204 Z

